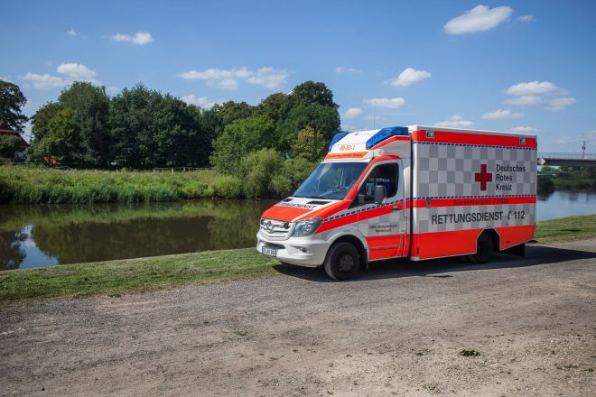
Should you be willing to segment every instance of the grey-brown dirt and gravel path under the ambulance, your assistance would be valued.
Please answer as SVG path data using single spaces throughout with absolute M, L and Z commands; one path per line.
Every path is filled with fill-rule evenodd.
M 0 309 L 0 394 L 596 394 L 596 239 L 284 272 Z

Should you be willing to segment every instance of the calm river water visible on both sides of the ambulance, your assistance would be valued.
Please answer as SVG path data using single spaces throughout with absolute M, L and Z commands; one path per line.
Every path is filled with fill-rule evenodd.
M 276 200 L 0 206 L 0 270 L 249 247 Z M 596 192 L 538 196 L 537 218 L 596 213 Z

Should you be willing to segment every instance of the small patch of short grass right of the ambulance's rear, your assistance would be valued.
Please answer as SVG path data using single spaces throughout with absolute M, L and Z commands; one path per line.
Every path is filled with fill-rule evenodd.
M 596 235 L 596 214 L 536 222 L 538 243 L 570 241 Z

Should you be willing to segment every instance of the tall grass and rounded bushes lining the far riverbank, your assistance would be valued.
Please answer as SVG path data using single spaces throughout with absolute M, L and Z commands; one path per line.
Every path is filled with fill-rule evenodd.
M 0 202 L 82 204 L 285 197 L 316 166 L 303 158 L 285 160 L 275 149 L 251 152 L 239 164 L 235 175 L 212 170 L 172 174 L 0 166 Z

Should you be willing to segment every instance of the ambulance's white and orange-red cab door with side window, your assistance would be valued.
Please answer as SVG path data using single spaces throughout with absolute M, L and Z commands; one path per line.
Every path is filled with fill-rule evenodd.
M 374 202 L 376 185 L 386 189 L 380 205 Z M 375 164 L 360 185 L 359 195 L 364 196 L 364 203 L 357 196 L 353 207 L 359 210 L 359 231 L 368 242 L 368 260 L 403 256 L 407 219 L 401 160 Z

